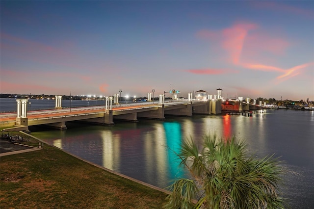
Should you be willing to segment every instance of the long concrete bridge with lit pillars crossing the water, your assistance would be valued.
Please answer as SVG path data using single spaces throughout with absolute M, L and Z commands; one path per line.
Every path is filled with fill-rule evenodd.
M 65 122 L 69 121 L 114 125 L 114 120 L 137 122 L 138 118 L 163 120 L 165 115 L 192 116 L 193 114 L 221 113 L 220 99 L 199 101 L 191 97 L 168 102 L 161 98 L 158 104 L 153 102 L 112 104 L 109 98 L 106 100 L 106 104 L 102 106 L 64 109 L 56 101 L 55 109 L 28 112 L 26 104 L 27 100 L 17 100 L 16 113 L 1 113 L 1 129 L 6 128 L 6 131 L 26 131 L 29 126 L 36 125 L 49 125 L 57 129 L 67 129 Z

